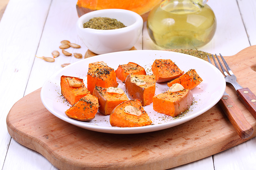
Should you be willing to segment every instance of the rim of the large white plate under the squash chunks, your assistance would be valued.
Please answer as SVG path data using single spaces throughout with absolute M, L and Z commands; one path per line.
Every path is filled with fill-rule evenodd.
M 136 50 L 136 51 L 151 51 L 151 52 L 157 52 L 158 50 Z M 135 51 L 135 52 L 136 52 Z M 128 52 L 128 51 L 119 51 L 119 52 L 114 52 L 114 53 L 123 53 L 123 52 Z M 130 51 L 130 53 L 133 53 L 134 51 Z M 175 52 L 172 52 L 172 51 L 165 51 L 167 53 L 175 53 Z M 101 55 L 109 55 L 110 53 L 107 53 L 107 54 L 101 54 Z M 113 54 L 113 53 L 111 53 Z M 181 53 L 180 53 L 181 54 Z M 184 55 L 187 55 L 187 54 L 184 54 Z M 189 55 L 190 56 L 190 55 Z M 94 57 L 90 57 L 90 58 L 95 58 L 95 57 L 98 57 L 98 56 L 94 56 Z M 194 57 L 194 56 L 190 56 L 190 57 Z M 201 60 L 202 62 L 205 62 L 208 66 L 212 67 L 214 70 L 217 71 L 217 73 L 221 74 L 222 73 L 215 67 L 213 66 L 212 64 L 208 63 L 207 61 L 205 60 L 202 60 L 200 58 L 197 58 L 197 57 L 194 57 L 196 60 Z M 86 60 L 86 59 L 84 59 Z M 83 60 L 80 60 L 80 61 L 77 61 L 75 63 L 72 63 L 68 66 L 66 66 L 66 68 L 78 63 L 78 62 L 82 62 Z M 63 69 L 66 69 L 66 68 L 63 68 Z M 52 79 L 53 76 L 57 76 L 60 72 L 62 72 L 62 69 L 57 71 L 56 73 L 54 73 L 52 76 L 50 76 L 50 78 L 48 78 L 46 80 L 46 82 L 44 83 L 42 89 L 45 87 L 45 84 L 50 80 Z M 174 125 L 171 126 L 171 127 L 174 127 L 176 125 L 180 125 L 182 123 L 180 122 L 187 122 L 191 119 L 194 119 L 195 117 L 197 116 L 200 116 L 201 114 L 205 113 L 207 110 L 209 110 L 210 108 L 212 108 L 216 103 L 218 103 L 218 101 L 221 99 L 225 89 L 226 89 L 226 81 L 225 81 L 225 78 L 224 76 L 220 76 L 222 77 L 222 83 L 223 85 L 225 84 L 225 86 L 223 86 L 224 88 L 222 88 L 222 91 L 221 93 L 219 94 L 219 97 L 216 98 L 216 100 L 214 100 L 212 102 L 211 105 L 209 105 L 208 107 L 204 108 L 203 110 L 200 110 L 200 112 L 198 112 L 197 114 L 193 114 L 193 115 L 190 115 L 190 116 L 187 116 L 187 117 L 183 117 L 182 119 L 177 119 L 175 120 L 175 123 L 173 123 Z M 221 82 L 220 82 L 221 83 Z M 42 100 L 42 103 L 43 105 L 46 107 L 47 110 L 50 111 L 50 113 L 52 113 L 54 116 L 58 117 L 59 119 L 62 119 L 72 125 L 76 125 L 78 127 L 81 127 L 81 128 L 84 128 L 86 127 L 85 129 L 88 129 L 88 130 L 92 130 L 92 131 L 98 131 L 98 132 L 104 132 L 104 133 L 112 133 L 112 134 L 137 134 L 137 133 L 146 133 L 146 132 L 152 132 L 151 129 L 154 129 L 153 131 L 158 131 L 158 130 L 163 130 L 163 129 L 166 129 L 165 126 L 166 124 L 168 124 L 169 122 L 165 122 L 165 123 L 162 123 L 162 124 L 158 124 L 157 127 L 155 127 L 155 125 L 148 125 L 148 126 L 142 126 L 142 127 L 127 127 L 127 128 L 119 128 L 119 127 L 102 127 L 102 126 L 95 126 L 95 125 L 88 125 L 88 124 L 84 124 L 83 122 L 79 122 L 79 121 L 75 121 L 73 119 L 70 119 L 69 117 L 62 117 L 61 115 L 59 114 L 55 114 L 55 111 L 52 110 L 51 108 L 47 107 L 46 104 L 45 104 L 45 101 L 42 97 L 43 93 L 42 93 L 42 89 L 41 89 L 41 92 L 40 92 L 40 97 L 41 97 L 41 100 Z M 73 122 L 76 122 L 76 124 L 74 124 Z M 171 128 L 171 127 L 168 127 L 168 128 Z M 146 129 L 146 130 L 145 130 Z M 111 131 L 111 132 L 110 132 Z

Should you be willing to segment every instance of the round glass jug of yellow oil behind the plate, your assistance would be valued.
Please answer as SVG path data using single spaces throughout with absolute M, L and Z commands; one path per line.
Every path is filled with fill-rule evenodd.
M 153 42 L 166 49 L 197 49 L 216 31 L 213 10 L 202 0 L 164 0 L 149 13 L 147 29 Z

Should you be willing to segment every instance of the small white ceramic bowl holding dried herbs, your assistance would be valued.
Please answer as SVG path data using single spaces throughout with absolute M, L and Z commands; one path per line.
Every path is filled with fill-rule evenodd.
M 126 27 L 111 30 L 84 28 L 83 23 L 94 17 L 114 18 Z M 130 50 L 142 32 L 142 17 L 129 10 L 103 9 L 82 15 L 76 24 L 78 36 L 85 46 L 95 54 Z

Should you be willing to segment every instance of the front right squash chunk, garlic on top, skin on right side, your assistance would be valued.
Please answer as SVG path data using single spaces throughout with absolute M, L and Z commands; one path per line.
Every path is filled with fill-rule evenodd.
M 159 113 L 178 116 L 187 110 L 193 102 L 193 94 L 189 89 L 158 94 L 153 97 L 153 109 Z

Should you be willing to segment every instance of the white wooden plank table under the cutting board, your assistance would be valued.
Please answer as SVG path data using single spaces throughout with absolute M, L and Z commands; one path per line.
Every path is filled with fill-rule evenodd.
M 85 54 L 75 23 L 77 0 L 10 0 L 0 21 L 0 168 L 57 169 L 40 153 L 14 141 L 6 128 L 6 116 L 15 102 L 42 87 L 63 63 L 81 59 L 60 56 L 54 63 L 36 58 L 50 56 L 66 39 L 82 46 L 69 52 Z M 198 49 L 231 56 L 256 45 L 255 0 L 210 0 L 217 19 L 212 41 Z M 146 23 L 136 43 L 138 50 L 161 49 L 149 38 Z M 72 49 L 70 49 L 72 50 Z M 256 55 L 256 54 L 255 54 Z M 256 77 L 255 77 L 256 78 Z M 196 162 L 172 169 L 255 169 L 256 138 Z

